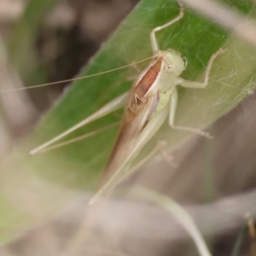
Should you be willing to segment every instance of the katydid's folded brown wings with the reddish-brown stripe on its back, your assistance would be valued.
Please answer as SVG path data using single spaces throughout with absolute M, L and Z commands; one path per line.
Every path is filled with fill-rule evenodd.
M 137 137 L 148 123 L 148 119 L 154 113 L 159 101 L 158 94 L 150 94 L 148 90 L 157 78 L 162 58 L 160 57 L 137 84 L 133 84 L 129 100 L 125 107 L 125 113 L 120 125 L 119 135 L 114 144 L 112 154 L 109 157 L 108 165 L 103 173 L 99 188 L 108 181 L 108 178 L 121 166 L 124 160 L 134 148 Z

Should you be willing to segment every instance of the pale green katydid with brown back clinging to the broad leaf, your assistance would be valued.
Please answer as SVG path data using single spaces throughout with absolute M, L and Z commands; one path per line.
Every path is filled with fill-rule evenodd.
M 187 67 L 187 61 L 173 49 L 160 50 L 156 32 L 172 26 L 177 20 L 183 18 L 183 3 L 179 3 L 179 15 L 162 26 L 155 27 L 150 32 L 150 40 L 154 52 L 152 61 L 143 70 L 131 86 L 131 90 L 108 102 L 78 125 L 64 131 L 59 136 L 33 149 L 30 154 L 37 154 L 49 148 L 50 145 L 60 140 L 82 125 L 87 125 L 96 119 L 125 107 L 125 113 L 119 128 L 119 134 L 114 144 L 113 151 L 109 157 L 108 164 L 102 176 L 100 189 L 90 201 L 94 203 L 105 194 L 110 188 L 118 183 L 121 177 L 129 168 L 129 163 L 146 143 L 160 129 L 166 118 L 169 118 L 169 125 L 172 129 L 190 131 L 201 136 L 210 137 L 205 131 L 196 128 L 175 125 L 175 113 L 177 107 L 177 85 L 185 88 L 205 88 L 208 84 L 209 73 L 214 59 L 224 53 L 225 49 L 218 49 L 207 64 L 204 82 L 189 81 L 180 78 L 180 74 Z

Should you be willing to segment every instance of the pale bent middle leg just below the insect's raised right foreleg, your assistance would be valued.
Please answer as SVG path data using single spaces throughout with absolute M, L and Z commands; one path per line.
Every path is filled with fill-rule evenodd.
M 211 137 L 207 132 L 201 131 L 200 129 L 197 129 L 197 128 L 174 125 L 176 107 L 177 107 L 177 89 L 174 88 L 173 91 L 172 91 L 172 95 L 171 95 L 170 115 L 169 115 L 169 125 L 172 127 L 172 129 L 176 129 L 176 130 L 180 130 L 180 131 L 190 131 L 190 132 L 194 132 L 196 134 L 199 134 L 201 136 Z

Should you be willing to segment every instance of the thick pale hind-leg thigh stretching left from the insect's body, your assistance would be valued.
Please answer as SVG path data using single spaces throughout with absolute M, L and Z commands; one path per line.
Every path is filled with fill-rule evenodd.
M 91 114 L 88 118 L 84 119 L 79 124 L 74 125 L 73 127 L 69 128 L 67 131 L 62 132 L 60 135 L 49 140 L 47 143 L 44 143 L 44 144 L 38 146 L 38 148 L 32 149 L 29 154 L 30 155 L 38 154 L 39 152 L 48 148 L 53 143 L 59 141 L 62 137 L 66 137 L 68 134 L 70 134 L 73 131 L 76 131 L 80 127 L 87 125 L 87 124 L 95 121 L 96 119 L 100 119 L 103 116 L 107 115 L 108 113 L 112 113 L 113 111 L 124 107 L 127 96 L 128 96 L 128 92 L 125 92 L 121 96 L 116 97 L 115 99 L 113 99 L 113 101 L 108 102 L 108 104 L 106 104 L 105 106 L 100 108 L 98 111 L 96 111 L 96 113 Z

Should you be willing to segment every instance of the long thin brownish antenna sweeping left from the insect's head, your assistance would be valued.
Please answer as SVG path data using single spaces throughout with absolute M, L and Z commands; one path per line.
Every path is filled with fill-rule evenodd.
M 75 79 L 66 79 L 66 80 L 61 80 L 61 81 L 57 81 L 57 82 L 52 82 L 52 83 L 47 83 L 47 84 L 38 84 L 38 85 L 32 85 L 32 86 L 27 86 L 27 87 L 22 87 L 22 88 L 16 88 L 16 89 L 7 89 L 7 90 L 0 90 L 0 93 L 2 92 L 9 92 L 9 91 L 17 91 L 17 90 L 31 90 L 31 89 L 35 89 L 35 88 L 39 88 L 39 87 L 44 87 L 44 86 L 49 86 L 49 85 L 54 85 L 54 84 L 62 84 L 62 83 L 67 83 L 67 82 L 73 82 L 73 81 L 76 81 L 76 80 L 81 80 L 81 79 L 88 79 L 88 78 L 92 78 L 92 77 L 96 77 L 98 75 L 102 75 L 102 74 L 105 74 L 105 73 L 111 73 L 113 71 L 117 71 L 119 69 L 122 69 L 122 68 L 125 68 L 125 67 L 131 67 L 137 63 L 141 63 L 143 61 L 148 61 L 150 59 L 152 59 L 153 57 L 149 57 L 147 59 L 144 59 L 142 61 L 137 61 L 137 62 L 132 62 L 131 64 L 128 64 L 128 65 L 125 65 L 125 66 L 122 66 L 122 67 L 117 67 L 117 68 L 113 68 L 113 69 L 110 69 L 108 71 L 103 71 L 101 73 L 94 73 L 94 74 L 90 74 L 90 75 L 87 75 L 87 76 L 84 76 L 84 77 L 80 77 L 80 78 L 75 78 Z

